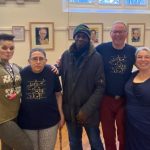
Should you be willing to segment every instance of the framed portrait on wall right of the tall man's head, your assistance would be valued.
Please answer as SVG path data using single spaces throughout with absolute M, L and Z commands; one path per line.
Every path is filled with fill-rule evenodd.
M 133 46 L 144 46 L 145 44 L 145 23 L 128 23 L 127 43 Z

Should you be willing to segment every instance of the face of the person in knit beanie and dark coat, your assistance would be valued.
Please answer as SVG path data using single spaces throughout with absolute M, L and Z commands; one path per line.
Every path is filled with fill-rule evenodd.
M 85 33 L 78 33 L 75 36 L 75 43 L 77 46 L 77 49 L 82 49 L 86 47 L 89 44 L 89 38 Z

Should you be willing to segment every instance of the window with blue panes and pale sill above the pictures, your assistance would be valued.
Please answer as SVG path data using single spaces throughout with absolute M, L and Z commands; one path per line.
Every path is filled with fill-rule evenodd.
M 66 12 L 147 13 L 149 0 L 63 0 Z

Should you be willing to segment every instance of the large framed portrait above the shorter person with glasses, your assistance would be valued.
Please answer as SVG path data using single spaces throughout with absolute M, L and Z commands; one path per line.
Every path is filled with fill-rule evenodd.
M 30 22 L 29 26 L 31 48 L 54 49 L 53 22 Z

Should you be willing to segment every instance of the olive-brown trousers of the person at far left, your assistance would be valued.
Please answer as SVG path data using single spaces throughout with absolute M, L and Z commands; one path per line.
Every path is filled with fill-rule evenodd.
M 34 149 L 28 135 L 14 121 L 0 124 L 0 139 L 2 140 L 2 150 Z

